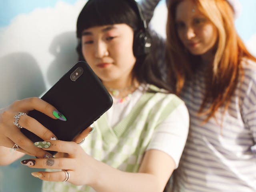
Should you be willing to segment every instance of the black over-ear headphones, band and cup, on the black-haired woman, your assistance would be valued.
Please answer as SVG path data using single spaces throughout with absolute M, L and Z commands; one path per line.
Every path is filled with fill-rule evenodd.
M 147 22 L 144 18 L 140 5 L 135 0 L 127 0 L 139 17 L 140 26 L 138 31 L 134 31 L 133 53 L 137 56 L 147 55 L 150 52 L 151 37 L 148 32 Z

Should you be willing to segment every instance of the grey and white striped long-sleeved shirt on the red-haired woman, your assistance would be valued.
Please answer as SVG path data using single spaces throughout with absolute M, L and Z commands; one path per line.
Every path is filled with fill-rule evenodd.
M 140 2 L 148 21 L 158 2 Z M 164 68 L 164 39 L 152 35 L 158 46 L 152 53 Z M 217 121 L 211 118 L 202 124 L 206 116 L 198 116 L 205 93 L 204 69 L 184 86 L 181 97 L 190 114 L 190 130 L 176 170 L 182 192 L 256 191 L 256 63 L 244 60 L 243 67 L 244 79 L 228 110 L 216 112 Z

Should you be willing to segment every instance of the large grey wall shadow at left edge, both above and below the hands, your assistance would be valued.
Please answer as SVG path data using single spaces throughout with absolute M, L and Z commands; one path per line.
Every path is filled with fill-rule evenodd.
M 28 53 L 12 53 L 0 58 L 0 108 L 14 100 L 40 96 L 45 90 L 42 72 Z M 41 180 L 34 178 L 31 168 L 20 164 L 22 159 L 0 167 L 0 192 L 40 192 Z M 38 169 L 39 170 L 39 169 Z

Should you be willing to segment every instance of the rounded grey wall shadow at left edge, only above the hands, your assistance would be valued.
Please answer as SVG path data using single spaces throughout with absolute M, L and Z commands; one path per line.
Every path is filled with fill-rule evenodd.
M 36 60 L 28 53 L 0 58 L 0 108 L 18 99 L 40 96 L 46 86 Z

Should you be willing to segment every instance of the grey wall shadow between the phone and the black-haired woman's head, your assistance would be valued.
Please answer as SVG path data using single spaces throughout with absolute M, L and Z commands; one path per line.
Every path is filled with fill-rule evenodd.
M 51 45 L 50 53 L 55 59 L 47 71 L 50 86 L 54 85 L 78 61 L 76 53 L 76 33 L 69 31 L 56 36 Z

